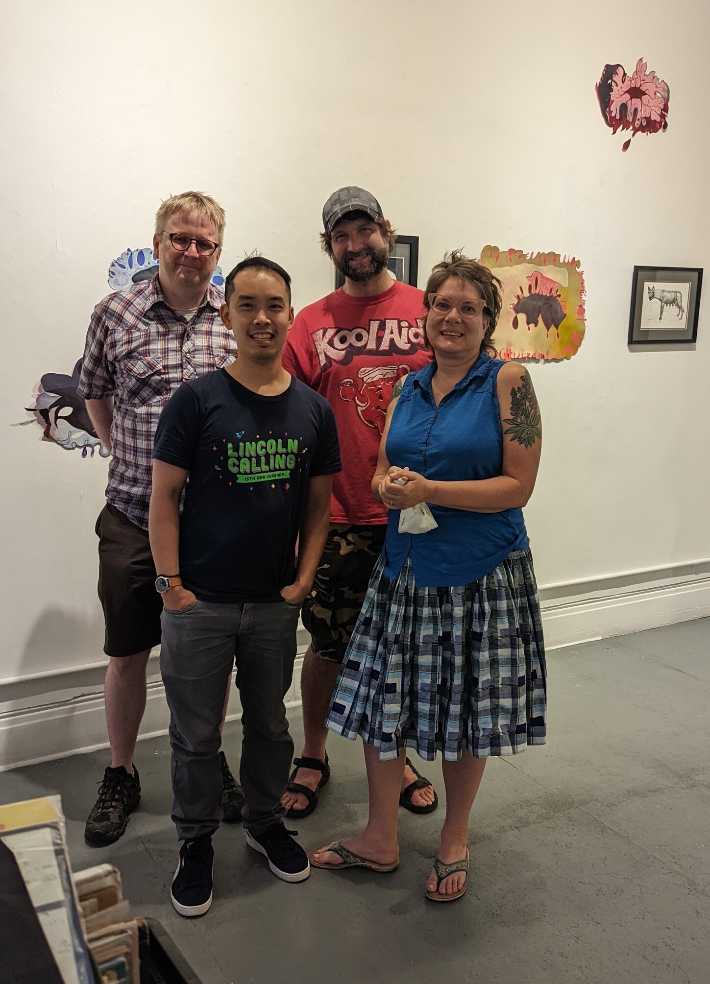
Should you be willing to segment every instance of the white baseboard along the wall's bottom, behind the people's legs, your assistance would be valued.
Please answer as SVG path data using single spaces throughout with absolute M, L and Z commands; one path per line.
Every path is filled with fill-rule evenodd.
M 607 639 L 710 615 L 710 561 L 628 572 L 540 588 L 548 649 Z M 300 704 L 301 628 L 287 707 Z M 104 662 L 0 680 L 0 771 L 107 748 Z M 241 714 L 232 688 L 228 720 Z M 158 659 L 149 664 L 148 702 L 140 738 L 167 732 Z

